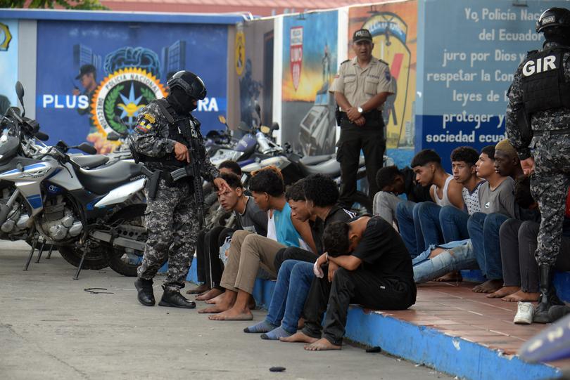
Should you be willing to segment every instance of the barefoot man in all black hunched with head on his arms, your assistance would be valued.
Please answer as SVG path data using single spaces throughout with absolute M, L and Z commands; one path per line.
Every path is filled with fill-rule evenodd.
M 412 259 L 384 219 L 361 216 L 350 223 L 332 223 L 323 240 L 327 254 L 315 263 L 319 278 L 312 281 L 305 302 L 305 327 L 281 341 L 310 343 L 306 350 L 340 349 L 350 303 L 381 310 L 403 310 L 415 303 Z M 329 261 L 339 267 L 332 282 L 324 275 Z

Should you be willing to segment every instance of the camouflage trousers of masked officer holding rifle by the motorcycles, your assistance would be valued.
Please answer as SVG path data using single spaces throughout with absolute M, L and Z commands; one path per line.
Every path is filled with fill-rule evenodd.
M 188 184 L 169 188 L 162 180 L 155 199 L 148 199 L 148 187 L 145 195 L 148 240 L 139 266 L 139 277 L 152 280 L 168 259 L 168 274 L 163 288 L 178 291 L 184 287 L 198 238 L 194 195 L 190 194 Z

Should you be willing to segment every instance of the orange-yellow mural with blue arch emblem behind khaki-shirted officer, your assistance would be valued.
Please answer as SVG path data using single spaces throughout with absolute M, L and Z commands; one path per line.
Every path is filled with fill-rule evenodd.
M 348 13 L 348 41 L 365 28 L 372 34 L 375 58 L 390 65 L 395 95 L 384 104 L 386 147 L 398 166 L 408 164 L 414 148 L 414 99 L 417 63 L 417 1 L 352 7 Z M 355 56 L 348 48 L 349 58 Z

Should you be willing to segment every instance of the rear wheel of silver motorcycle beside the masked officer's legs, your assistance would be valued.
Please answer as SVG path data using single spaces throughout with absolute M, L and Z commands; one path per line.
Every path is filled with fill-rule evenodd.
M 132 204 L 117 211 L 108 220 L 109 224 L 122 220 L 121 225 L 133 225 L 136 227 L 144 227 L 144 211 L 146 204 Z M 141 239 L 146 240 L 146 234 L 141 235 Z M 109 268 L 113 269 L 120 275 L 127 277 L 136 277 L 137 268 L 141 265 L 143 252 L 126 247 L 113 246 L 104 243 L 105 256 Z

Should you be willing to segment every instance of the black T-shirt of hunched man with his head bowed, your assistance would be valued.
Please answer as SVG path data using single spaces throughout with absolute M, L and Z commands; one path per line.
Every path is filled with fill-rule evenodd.
M 366 225 L 362 239 L 353 251 L 362 260 L 363 268 L 378 277 L 414 283 L 412 259 L 398 232 L 383 218 L 374 216 Z

